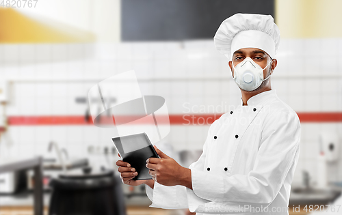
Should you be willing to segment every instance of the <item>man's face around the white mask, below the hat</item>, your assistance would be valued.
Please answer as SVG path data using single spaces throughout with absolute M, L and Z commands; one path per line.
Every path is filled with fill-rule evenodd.
M 265 68 L 269 63 L 272 64 L 270 66 L 267 66 L 267 68 L 265 68 L 263 70 L 263 78 L 267 78 L 270 74 L 272 74 L 274 68 L 276 68 L 276 59 L 271 59 L 271 57 L 269 57 L 269 55 L 267 55 L 267 53 L 265 53 L 265 51 L 262 51 L 259 48 L 241 48 L 238 51 L 235 51 L 232 61 L 229 61 L 229 67 L 231 68 L 232 71 L 232 75 L 234 76 L 234 69 L 233 69 L 233 65 L 234 67 L 237 66 L 237 64 L 241 63 L 242 61 L 244 61 L 244 59 L 246 59 L 246 57 L 250 57 L 255 63 L 257 63 L 261 68 Z M 232 65 L 233 63 L 233 65 Z M 258 87 L 257 89 L 254 89 L 254 91 L 257 91 L 267 85 L 269 85 L 269 79 L 267 79 L 267 81 L 263 81 L 263 83 L 261 84 L 260 87 Z

